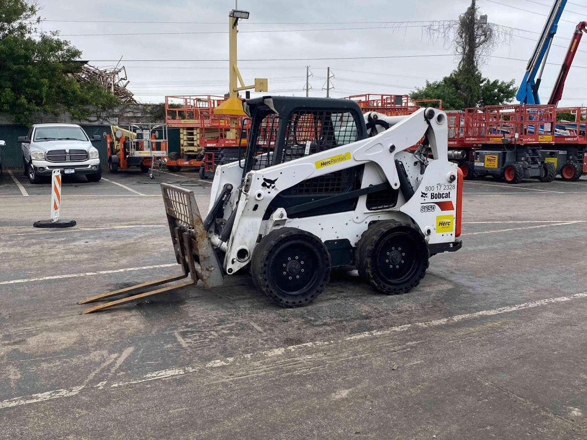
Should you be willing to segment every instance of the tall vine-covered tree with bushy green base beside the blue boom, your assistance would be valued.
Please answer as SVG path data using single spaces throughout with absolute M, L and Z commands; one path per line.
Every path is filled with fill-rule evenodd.
M 483 55 L 495 42 L 498 29 L 488 26 L 487 18 L 480 19 L 475 0 L 460 16 L 455 36 L 455 52 L 460 56 L 456 70 L 435 82 L 410 93 L 411 99 L 441 99 L 445 109 L 493 106 L 510 102 L 517 92 L 515 80 L 500 81 L 483 77 L 479 64 Z

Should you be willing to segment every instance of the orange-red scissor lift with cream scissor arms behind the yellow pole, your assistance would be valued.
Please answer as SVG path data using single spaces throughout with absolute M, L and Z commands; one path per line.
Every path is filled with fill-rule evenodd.
M 239 127 L 231 127 L 227 116 L 214 114 L 224 100 L 223 96 L 212 95 L 165 97 L 167 125 L 181 129 L 180 155 L 172 154 L 167 160 L 171 171 L 196 167 L 201 177 L 209 177 L 216 165 L 237 160 Z M 248 122 L 244 130 L 248 130 Z M 246 145 L 247 135 L 243 133 L 241 146 Z

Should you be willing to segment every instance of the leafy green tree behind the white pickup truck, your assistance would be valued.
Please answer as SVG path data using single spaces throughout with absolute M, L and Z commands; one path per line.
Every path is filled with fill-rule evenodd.
M 29 124 L 38 111 L 69 111 L 83 119 L 90 106 L 107 109 L 119 100 L 96 83 L 77 83 L 82 56 L 56 32 L 41 32 L 38 6 L 30 0 L 0 0 L 0 111 Z M 33 36 L 35 35 L 35 36 Z

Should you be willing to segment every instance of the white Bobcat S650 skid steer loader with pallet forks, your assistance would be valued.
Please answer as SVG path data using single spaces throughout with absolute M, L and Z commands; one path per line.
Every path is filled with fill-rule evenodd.
M 179 276 L 86 299 L 85 313 L 249 269 L 283 307 L 323 292 L 332 268 L 352 268 L 390 295 L 417 286 L 429 258 L 461 248 L 462 173 L 447 157 L 447 118 L 362 114 L 352 100 L 265 96 L 241 160 L 219 166 L 202 219 L 193 192 L 162 184 L 183 267 Z M 188 282 L 145 290 L 191 275 Z

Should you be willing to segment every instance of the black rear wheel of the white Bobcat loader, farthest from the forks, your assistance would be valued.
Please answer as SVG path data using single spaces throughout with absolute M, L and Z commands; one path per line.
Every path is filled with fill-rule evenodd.
M 363 232 L 355 258 L 359 275 L 370 285 L 396 295 L 419 285 L 428 269 L 429 251 L 416 226 L 384 220 Z

